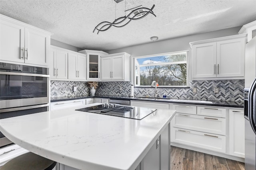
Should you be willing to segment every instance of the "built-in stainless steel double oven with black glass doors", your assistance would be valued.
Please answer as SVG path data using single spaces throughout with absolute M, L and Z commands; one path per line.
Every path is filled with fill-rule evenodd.
M 49 69 L 0 63 L 0 119 L 48 111 Z M 11 145 L 0 132 L 0 147 Z

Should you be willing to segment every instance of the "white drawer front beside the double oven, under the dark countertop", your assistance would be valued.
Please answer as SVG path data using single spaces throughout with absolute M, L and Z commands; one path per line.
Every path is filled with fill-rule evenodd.
M 63 109 L 66 107 L 73 107 L 73 106 L 78 106 L 78 105 L 85 105 L 85 99 L 52 102 L 51 110 Z

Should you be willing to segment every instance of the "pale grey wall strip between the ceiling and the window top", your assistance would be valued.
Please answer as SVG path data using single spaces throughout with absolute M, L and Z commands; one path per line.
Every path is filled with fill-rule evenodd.
M 158 41 L 154 41 L 147 44 L 108 50 L 106 51 L 106 53 L 114 54 L 114 53 L 126 52 L 126 53 L 129 53 L 131 57 L 138 57 L 138 56 L 144 56 L 144 55 L 154 55 L 154 54 L 169 53 L 174 51 L 190 50 L 190 46 L 189 46 L 190 42 L 218 38 L 218 37 L 225 37 L 230 35 L 237 35 L 240 28 L 241 26 L 228 28 L 228 29 L 221 29 L 218 31 L 212 31 L 208 33 L 190 35 L 186 37 L 179 37 L 175 39 L 168 39 L 163 41 L 158 40 Z M 152 36 L 157 36 L 157 35 L 152 35 Z M 150 41 L 150 37 L 148 37 L 148 39 Z M 161 37 L 159 37 L 159 39 L 161 39 Z M 136 41 L 136 39 L 134 39 L 134 41 Z

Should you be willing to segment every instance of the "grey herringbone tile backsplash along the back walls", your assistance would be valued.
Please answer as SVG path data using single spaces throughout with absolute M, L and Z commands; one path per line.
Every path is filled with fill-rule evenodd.
M 129 96 L 131 82 L 98 82 L 96 95 Z M 73 92 L 73 86 L 77 92 Z M 219 93 L 214 93 L 214 88 L 219 88 Z M 197 92 L 193 93 L 192 88 Z M 158 88 L 159 96 L 166 94 L 168 98 L 188 98 L 200 100 L 244 100 L 244 80 L 200 80 L 190 81 L 189 88 Z M 86 82 L 51 81 L 51 97 L 90 95 Z M 154 88 L 134 88 L 135 96 L 154 96 Z

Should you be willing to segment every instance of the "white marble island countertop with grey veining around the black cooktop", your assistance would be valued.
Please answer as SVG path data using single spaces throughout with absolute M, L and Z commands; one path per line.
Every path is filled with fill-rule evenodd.
M 158 109 L 136 120 L 75 111 L 83 107 L 1 119 L 0 131 L 17 145 L 74 168 L 134 170 L 175 114 Z

